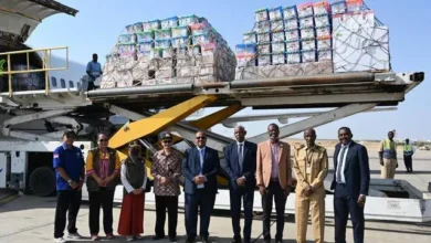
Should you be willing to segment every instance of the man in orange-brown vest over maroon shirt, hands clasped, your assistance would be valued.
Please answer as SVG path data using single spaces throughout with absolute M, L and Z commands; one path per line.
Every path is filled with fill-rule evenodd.
M 103 209 L 103 228 L 106 239 L 114 239 L 113 208 L 115 188 L 119 183 L 120 160 L 115 149 L 108 148 L 108 136 L 97 135 L 97 147 L 88 151 L 86 159 L 87 190 L 90 202 L 90 233 L 93 241 L 99 240 L 99 212 Z

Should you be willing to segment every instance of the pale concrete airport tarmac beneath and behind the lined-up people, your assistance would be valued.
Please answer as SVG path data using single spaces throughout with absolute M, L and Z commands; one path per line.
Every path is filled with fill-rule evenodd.
M 332 157 L 333 149 L 328 149 L 328 155 Z M 402 154 L 401 154 L 402 155 Z M 380 178 L 380 165 L 378 162 L 377 152 L 374 149 L 369 150 L 370 156 L 370 169 L 372 178 Z M 333 160 L 329 158 L 329 168 L 333 169 Z M 403 179 L 420 191 L 430 197 L 428 192 L 428 182 L 431 181 L 431 151 L 417 151 L 413 159 L 413 173 L 407 173 L 402 158 L 399 159 L 399 168 L 396 172 L 396 179 Z M 330 176 L 329 176 L 330 177 Z M 0 243 L 9 242 L 52 242 L 53 229 L 54 229 L 54 212 L 55 212 L 55 198 L 36 198 L 33 196 L 9 196 L 0 192 Z M 183 196 L 181 196 L 183 197 Z M 259 199 L 257 199 L 259 200 Z M 288 200 L 294 200 L 290 197 Z M 114 209 L 114 229 L 116 231 L 118 225 L 120 205 L 117 204 Z M 155 228 L 155 211 L 153 205 L 147 205 L 145 211 L 144 223 L 144 241 L 153 241 Z M 185 241 L 185 216 L 180 211 L 178 218 L 178 242 Z M 274 219 L 275 220 L 275 219 Z M 274 223 L 274 221 L 273 221 Z M 243 225 L 243 223 L 241 223 Z M 75 242 L 90 242 L 88 231 L 88 207 L 83 203 L 78 220 L 77 228 L 80 233 L 87 239 Z M 101 218 L 102 229 L 102 218 Z M 308 224 L 307 243 L 313 241 L 312 225 Z M 167 229 L 166 229 L 167 231 Z M 253 242 L 263 242 L 262 236 L 262 221 L 255 219 L 253 222 Z M 210 224 L 210 240 L 212 242 L 231 242 L 232 226 L 229 211 L 214 211 L 211 218 Z M 272 234 L 275 234 L 275 224 L 272 225 Z M 284 230 L 284 242 L 293 243 L 295 241 L 295 223 L 294 215 L 290 215 L 286 219 Z M 103 236 L 103 232 L 101 232 Z M 365 242 L 379 243 L 404 243 L 414 241 L 416 243 L 429 243 L 431 240 L 431 223 L 400 223 L 390 221 L 366 221 L 366 236 Z M 125 242 L 124 237 L 118 237 L 111 242 Z M 168 242 L 167 240 L 160 241 L 160 243 Z M 325 228 L 325 242 L 334 242 L 334 219 L 326 219 Z M 351 224 L 348 223 L 347 242 L 353 242 Z

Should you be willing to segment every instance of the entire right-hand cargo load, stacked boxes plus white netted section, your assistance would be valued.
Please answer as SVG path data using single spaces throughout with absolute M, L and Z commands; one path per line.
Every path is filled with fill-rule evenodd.
M 388 29 L 362 0 L 261 9 L 254 21 L 236 45 L 236 80 L 390 70 Z

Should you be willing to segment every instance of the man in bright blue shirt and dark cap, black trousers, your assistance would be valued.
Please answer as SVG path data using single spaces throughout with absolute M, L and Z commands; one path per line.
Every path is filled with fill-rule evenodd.
M 76 229 L 76 216 L 81 208 L 82 184 L 84 180 L 85 162 L 82 151 L 73 146 L 76 134 L 65 131 L 63 145 L 53 152 L 53 167 L 56 178 L 56 209 L 54 222 L 54 241 L 65 242 L 63 239 L 69 211 L 69 237 L 81 239 Z

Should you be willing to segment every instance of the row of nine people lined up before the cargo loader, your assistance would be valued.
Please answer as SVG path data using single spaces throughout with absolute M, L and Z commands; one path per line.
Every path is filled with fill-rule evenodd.
M 316 242 L 324 242 L 325 196 L 323 182 L 328 173 L 328 156 L 324 147 L 315 144 L 316 131 L 304 131 L 305 144 L 295 146 L 291 165 L 291 146 L 278 139 L 276 124 L 267 127 L 269 140 L 259 145 L 246 141 L 246 130 L 242 126 L 234 129 L 235 141 L 224 149 L 225 163 L 222 166 L 229 176 L 232 243 L 251 243 L 253 222 L 254 190 L 257 187 L 263 209 L 263 239 L 271 242 L 271 213 L 273 202 L 276 211 L 276 243 L 283 241 L 284 212 L 287 197 L 296 175 L 295 221 L 298 243 L 306 242 L 308 212 Z M 57 207 L 55 213 L 54 239 L 65 242 L 63 231 L 69 210 L 69 236 L 78 239 L 76 215 L 81 205 L 83 178 L 90 197 L 90 231 L 92 240 L 99 240 L 99 209 L 103 208 L 103 225 L 106 239 L 114 237 L 113 201 L 115 186 L 124 186 L 124 198 L 118 223 L 118 234 L 127 241 L 140 239 L 144 232 L 144 202 L 148 191 L 145 160 L 140 146 L 129 145 L 128 156 L 120 161 L 118 152 L 107 147 L 108 136 L 98 135 L 98 147 L 88 151 L 84 162 L 81 149 L 73 146 L 76 135 L 67 131 L 63 146 L 54 151 L 54 168 L 57 181 Z M 349 128 L 338 130 L 339 144 L 335 148 L 332 189 L 335 190 L 335 241 L 346 242 L 346 225 L 350 214 L 355 242 L 364 242 L 364 207 L 368 194 L 370 172 L 367 149 L 351 140 Z M 195 147 L 183 155 L 172 148 L 174 137 L 169 133 L 160 136 L 162 149 L 153 157 L 151 176 L 156 196 L 156 229 L 154 240 L 166 237 L 165 221 L 168 210 L 168 237 L 177 241 L 179 178 L 185 177 L 186 243 L 193 243 L 198 236 L 198 214 L 200 215 L 199 236 L 202 243 L 209 242 L 211 212 L 218 193 L 217 176 L 220 158 L 217 150 L 207 147 L 204 131 L 198 131 Z M 118 181 L 119 180 L 119 181 Z M 244 229 L 241 236 L 241 204 L 244 208 Z M 198 213 L 199 211 L 199 213 Z

